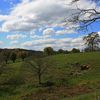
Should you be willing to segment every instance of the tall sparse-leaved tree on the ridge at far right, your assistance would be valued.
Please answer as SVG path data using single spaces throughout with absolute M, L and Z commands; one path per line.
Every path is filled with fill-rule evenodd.
M 85 44 L 91 51 L 96 50 L 99 47 L 100 36 L 97 32 L 92 32 L 83 38 Z

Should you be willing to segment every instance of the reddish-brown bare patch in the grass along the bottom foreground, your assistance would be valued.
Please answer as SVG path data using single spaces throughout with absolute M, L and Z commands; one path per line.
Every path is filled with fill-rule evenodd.
M 81 95 L 93 92 L 94 90 L 86 87 L 85 85 L 67 87 L 46 87 L 40 88 L 38 91 L 23 96 L 22 100 L 61 100 L 66 97 L 73 97 L 75 95 Z

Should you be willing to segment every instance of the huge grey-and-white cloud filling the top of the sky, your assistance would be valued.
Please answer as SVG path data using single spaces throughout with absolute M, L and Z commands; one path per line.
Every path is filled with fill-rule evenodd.
M 41 26 L 61 25 L 68 15 L 76 11 L 75 5 L 67 5 L 71 1 L 22 0 L 12 8 L 9 15 L 0 15 L 0 20 L 4 21 L 2 29 L 4 31 L 32 31 Z M 81 5 L 81 8 L 92 8 L 95 3 L 80 0 L 78 5 Z

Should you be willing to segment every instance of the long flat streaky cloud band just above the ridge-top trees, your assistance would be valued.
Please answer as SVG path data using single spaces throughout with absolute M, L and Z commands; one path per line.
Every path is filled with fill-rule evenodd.
M 55 50 L 60 48 L 70 50 L 73 47 L 82 49 L 84 47 L 84 41 L 82 37 L 78 38 L 48 38 L 48 39 L 38 39 L 34 41 L 27 41 L 21 44 L 24 48 L 33 48 L 35 50 L 43 50 L 45 47 L 51 46 Z

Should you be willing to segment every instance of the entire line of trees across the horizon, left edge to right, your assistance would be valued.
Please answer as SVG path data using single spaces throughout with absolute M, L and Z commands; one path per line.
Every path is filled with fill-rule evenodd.
M 89 33 L 87 36 L 83 37 L 85 41 L 85 49 L 84 52 L 90 51 L 98 51 L 100 50 L 100 35 L 97 32 Z M 82 52 L 80 49 L 73 48 L 72 50 L 63 50 L 59 49 L 55 51 L 52 47 L 46 47 L 43 51 L 34 51 L 34 50 L 25 50 L 25 49 L 0 49 L 0 59 L 8 63 L 11 60 L 13 63 L 16 59 L 22 59 L 24 61 L 25 58 L 34 56 L 34 57 L 43 57 L 50 56 L 54 54 L 69 54 L 69 53 L 79 53 Z

